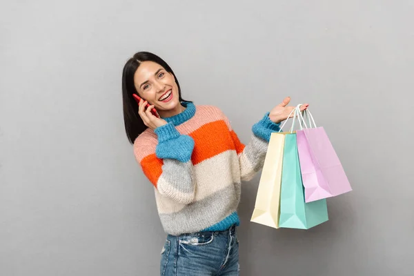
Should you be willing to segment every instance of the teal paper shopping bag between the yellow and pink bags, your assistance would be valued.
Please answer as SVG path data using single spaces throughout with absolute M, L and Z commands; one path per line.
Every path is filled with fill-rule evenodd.
M 279 227 L 309 229 L 328 220 L 326 199 L 305 203 L 296 133 L 285 137 Z

